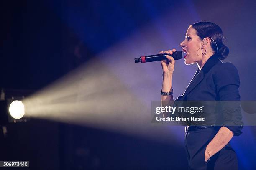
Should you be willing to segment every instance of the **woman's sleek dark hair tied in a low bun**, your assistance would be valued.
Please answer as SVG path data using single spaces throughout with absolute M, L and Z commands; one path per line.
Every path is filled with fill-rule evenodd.
M 209 37 L 216 42 L 218 46 L 218 51 L 214 41 L 211 41 L 210 45 L 215 53 L 218 54 L 218 58 L 220 58 L 220 60 L 224 60 L 225 58 L 227 58 L 229 54 L 229 49 L 227 46 L 224 45 L 225 38 L 223 37 L 223 32 L 218 25 L 216 25 L 215 23 L 202 21 L 192 24 L 192 27 L 197 31 L 197 36 L 199 36 L 201 40 L 205 37 Z

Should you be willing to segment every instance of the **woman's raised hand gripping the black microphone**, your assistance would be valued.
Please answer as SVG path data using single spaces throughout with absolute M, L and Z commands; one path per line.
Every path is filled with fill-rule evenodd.
M 159 54 L 172 54 L 173 52 L 175 52 L 176 49 L 172 49 L 172 50 L 168 50 L 168 51 L 161 51 Z M 172 74 L 174 71 L 174 58 L 167 55 L 166 56 L 168 60 L 161 60 L 161 65 L 162 65 L 162 69 L 163 69 L 163 73 L 164 74 Z

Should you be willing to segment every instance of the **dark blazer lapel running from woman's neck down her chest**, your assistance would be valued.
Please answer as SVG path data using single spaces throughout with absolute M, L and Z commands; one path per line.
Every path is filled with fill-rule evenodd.
M 189 94 L 189 92 L 192 91 L 197 86 L 197 84 L 202 81 L 202 79 L 204 79 L 204 74 L 207 73 L 213 66 L 215 66 L 219 62 L 221 61 L 218 58 L 217 54 L 214 54 L 206 61 L 205 65 L 202 67 L 201 70 L 197 69 L 195 75 L 193 76 L 193 79 L 190 81 L 186 91 L 182 95 L 182 100 L 184 100 L 187 94 Z

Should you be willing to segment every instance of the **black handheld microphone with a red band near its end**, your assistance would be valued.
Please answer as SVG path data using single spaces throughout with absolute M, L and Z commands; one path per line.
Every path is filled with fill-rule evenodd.
M 135 63 L 147 63 L 147 62 L 152 62 L 152 61 L 161 61 L 161 60 L 168 60 L 166 56 L 172 56 L 174 60 L 179 60 L 182 59 L 182 51 L 175 51 L 170 54 L 156 54 L 156 55 L 151 55 L 151 56 L 141 56 L 138 58 L 134 58 Z

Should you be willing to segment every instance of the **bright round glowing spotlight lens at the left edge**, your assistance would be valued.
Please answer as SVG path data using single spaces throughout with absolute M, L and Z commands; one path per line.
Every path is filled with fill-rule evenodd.
M 14 100 L 9 107 L 10 115 L 14 119 L 20 119 L 25 114 L 24 104 L 22 101 Z

